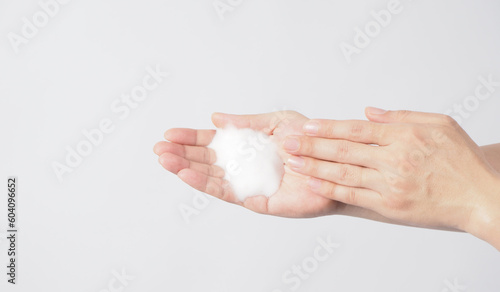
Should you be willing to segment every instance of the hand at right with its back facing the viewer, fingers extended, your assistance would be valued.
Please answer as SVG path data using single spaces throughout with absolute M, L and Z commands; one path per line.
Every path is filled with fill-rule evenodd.
M 287 138 L 287 165 L 312 177 L 311 191 L 401 223 L 500 234 L 500 175 L 453 119 L 372 108 L 367 117 L 309 121 L 307 136 Z

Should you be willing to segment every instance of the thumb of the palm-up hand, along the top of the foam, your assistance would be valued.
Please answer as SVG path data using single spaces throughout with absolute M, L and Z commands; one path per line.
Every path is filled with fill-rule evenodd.
M 251 128 L 253 130 L 264 131 L 270 134 L 280 121 L 290 115 L 287 111 L 278 111 L 258 115 L 232 115 L 224 113 L 214 113 L 212 122 L 217 128 L 224 128 L 231 124 L 236 128 Z

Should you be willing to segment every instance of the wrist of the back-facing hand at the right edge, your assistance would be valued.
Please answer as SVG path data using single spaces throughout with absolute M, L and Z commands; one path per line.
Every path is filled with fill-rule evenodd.
M 488 242 L 500 251 L 500 175 L 498 173 L 493 176 L 492 182 L 487 184 L 479 197 L 464 231 Z

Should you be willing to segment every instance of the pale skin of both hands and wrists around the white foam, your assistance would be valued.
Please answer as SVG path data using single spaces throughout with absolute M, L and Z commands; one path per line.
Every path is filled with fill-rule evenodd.
M 478 147 L 450 117 L 367 108 L 368 121 L 309 120 L 293 112 L 212 116 L 264 131 L 285 174 L 271 197 L 239 202 L 206 146 L 214 130 L 170 129 L 160 164 L 195 189 L 283 217 L 349 215 L 469 232 L 500 250 L 500 144 Z

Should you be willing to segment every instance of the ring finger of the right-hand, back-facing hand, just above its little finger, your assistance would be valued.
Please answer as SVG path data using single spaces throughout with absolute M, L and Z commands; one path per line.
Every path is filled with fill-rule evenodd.
M 309 157 L 291 156 L 287 165 L 293 171 L 350 187 L 378 189 L 382 175 L 374 169 L 335 163 Z

